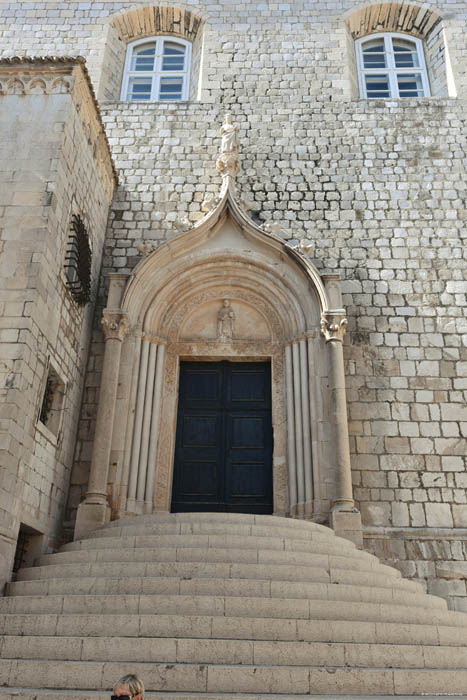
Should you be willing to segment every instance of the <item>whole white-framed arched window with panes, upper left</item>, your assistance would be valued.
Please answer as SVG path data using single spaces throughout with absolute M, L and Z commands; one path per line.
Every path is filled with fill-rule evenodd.
M 191 44 L 184 39 L 158 36 L 128 45 L 122 82 L 122 100 L 179 101 L 188 97 Z

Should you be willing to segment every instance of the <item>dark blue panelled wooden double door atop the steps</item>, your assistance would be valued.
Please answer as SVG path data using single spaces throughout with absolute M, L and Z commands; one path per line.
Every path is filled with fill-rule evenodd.
M 181 363 L 172 511 L 272 513 L 268 362 Z

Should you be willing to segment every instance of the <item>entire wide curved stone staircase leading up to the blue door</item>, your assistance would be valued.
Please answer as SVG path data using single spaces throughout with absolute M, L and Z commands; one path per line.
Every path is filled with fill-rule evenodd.
M 100 700 L 129 672 L 176 700 L 467 694 L 467 615 L 298 520 L 116 521 L 22 569 L 0 612 L 0 700 Z

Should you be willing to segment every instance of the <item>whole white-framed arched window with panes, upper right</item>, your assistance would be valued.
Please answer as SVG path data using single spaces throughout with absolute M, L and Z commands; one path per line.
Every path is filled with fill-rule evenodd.
M 406 34 L 372 34 L 358 39 L 355 48 L 362 97 L 429 97 L 420 39 Z

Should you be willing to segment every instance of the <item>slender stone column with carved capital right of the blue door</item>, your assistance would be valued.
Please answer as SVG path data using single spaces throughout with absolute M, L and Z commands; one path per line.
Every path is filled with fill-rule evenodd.
M 335 429 L 336 489 L 331 509 L 331 526 L 336 534 L 362 545 L 361 517 L 355 508 L 350 465 L 343 340 L 347 319 L 342 309 L 321 314 L 321 331 L 329 349 L 329 391 L 331 422 Z

